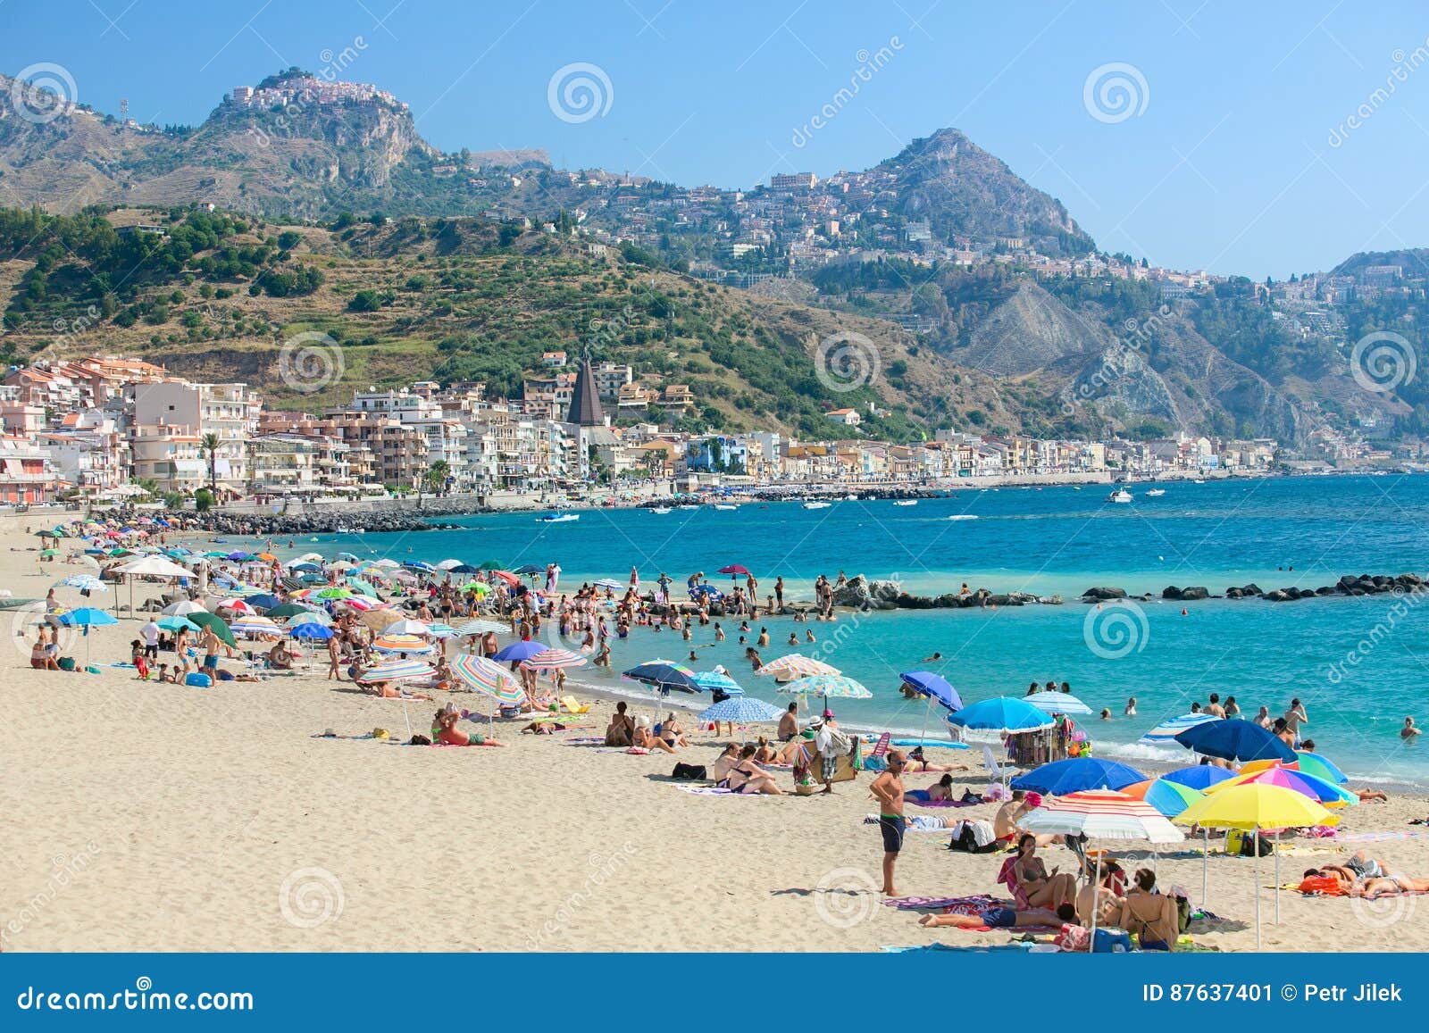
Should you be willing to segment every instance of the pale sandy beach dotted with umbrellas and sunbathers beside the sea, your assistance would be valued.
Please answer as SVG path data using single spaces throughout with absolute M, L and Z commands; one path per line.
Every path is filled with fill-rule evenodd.
M 43 597 L 80 567 L 41 567 L 21 524 L 0 527 L 0 587 Z M 139 586 L 136 599 L 160 587 Z M 127 603 L 127 586 L 120 593 Z M 114 596 L 61 602 L 111 606 Z M 33 614 L 10 617 L 16 646 L 0 656 L 4 950 L 789 952 L 1010 939 L 923 930 L 916 912 L 883 904 L 879 833 L 863 820 L 876 812 L 867 773 L 832 796 L 692 794 L 669 774 L 674 760 L 714 760 L 707 732 L 679 757 L 569 744 L 602 734 L 609 700 L 576 719 L 584 732 L 522 736 L 519 723 L 497 722 L 509 749 L 399 746 L 409 722 L 427 730 L 436 704 L 337 692 L 319 667 L 211 689 L 146 683 L 109 666 L 129 659 L 139 634 L 127 613 L 91 632 L 99 674 L 34 672 L 29 642 L 14 634 Z M 71 646 L 80 659 L 84 649 L 83 639 Z M 482 709 L 479 697 L 453 699 Z M 393 740 L 349 739 L 376 727 Z M 326 729 L 339 737 L 320 737 Z M 963 754 L 969 764 L 975 753 Z M 987 784 L 976 770 L 955 780 Z M 990 819 L 995 809 L 909 813 Z M 1408 824 L 1423 816 L 1429 804 L 1405 794 L 1352 807 L 1346 842 L 1298 843 L 1280 860 L 1282 882 L 1362 847 L 1423 876 L 1429 839 L 1410 837 L 1418 826 Z M 910 832 L 899 889 L 997 896 L 1000 856 L 946 843 L 946 833 Z M 1072 867 L 1062 847 L 1045 856 Z M 1260 864 L 1259 883 L 1270 886 L 1273 859 Z M 1195 926 L 1198 944 L 1255 947 L 1252 866 L 1212 856 L 1206 904 L 1225 922 Z M 1199 902 L 1199 852 L 1159 860 L 1159 873 Z M 1276 923 L 1266 890 L 1265 949 L 1425 950 L 1419 903 L 1282 893 Z

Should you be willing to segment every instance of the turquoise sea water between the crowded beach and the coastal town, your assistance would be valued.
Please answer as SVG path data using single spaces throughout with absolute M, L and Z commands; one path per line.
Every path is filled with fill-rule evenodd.
M 785 644 L 789 633 L 803 640 L 812 629 L 819 642 L 802 642 L 799 652 L 820 656 L 875 693 L 836 703 L 840 719 L 913 733 L 925 707 L 897 693 L 903 670 L 943 673 L 965 702 L 1020 696 L 1033 679 L 1070 682 L 1095 710 L 1113 713 L 1110 722 L 1080 719 L 1097 750 L 1129 757 L 1189 756 L 1147 752 L 1136 740 L 1212 692 L 1235 696 L 1248 716 L 1260 704 L 1280 714 L 1299 696 L 1310 717 L 1305 734 L 1353 776 L 1429 784 L 1426 747 L 1399 739 L 1406 714 L 1429 722 L 1420 692 L 1429 684 L 1429 606 L 1418 597 L 1159 599 L 1167 584 L 1222 593 L 1248 582 L 1269 590 L 1330 584 L 1340 574 L 1423 574 L 1429 477 L 1167 483 L 1156 499 L 1145 494 L 1149 487 L 1133 486 L 1135 501 L 1120 506 L 1105 501 L 1105 487 L 1049 487 L 969 490 L 910 507 L 746 503 L 736 511 L 584 511 L 579 522 L 557 524 L 500 514 L 460 520 L 459 530 L 320 536 L 287 552 L 346 549 L 432 563 L 490 559 L 509 567 L 554 560 L 563 567 L 562 586 L 572 590 L 594 577 L 623 583 L 634 564 L 647 584 L 667 572 L 679 592 L 696 570 L 720 584 L 714 572 L 742 563 L 759 577 L 762 594 L 782 574 L 786 599 L 812 597 L 815 576 L 840 570 L 892 577 L 920 594 L 956 592 L 963 582 L 999 593 L 1060 593 L 1069 600 L 1063 606 L 872 613 L 833 624 L 779 617 L 762 622 L 772 637 L 762 653 L 767 660 L 793 652 Z M 1157 599 L 1100 612 L 1070 602 L 1095 584 Z M 616 670 L 654 656 L 687 660 L 693 644 L 700 669 L 723 663 L 747 692 L 780 702 L 767 679 L 749 674 L 737 622 L 723 624 L 729 639 L 717 646 L 707 627 L 694 630 L 693 643 L 636 629 L 614 643 Z M 750 643 L 757 632 L 756 624 Z M 923 660 L 935 652 L 940 662 Z M 582 680 L 602 682 L 587 672 L 582 669 Z M 620 684 L 616 676 L 607 680 Z M 1122 716 L 1129 696 L 1137 699 L 1135 719 Z

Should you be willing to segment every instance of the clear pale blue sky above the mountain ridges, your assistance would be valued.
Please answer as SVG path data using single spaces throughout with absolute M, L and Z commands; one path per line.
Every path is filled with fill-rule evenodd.
M 1410 3 L 0 0 L 0 70 L 41 61 L 160 123 L 337 64 L 442 149 L 683 184 L 866 167 L 955 126 L 1155 263 L 1259 279 L 1429 246 L 1429 10 Z M 584 120 L 547 103 L 576 63 L 604 99 Z M 1115 83 L 1099 100 L 1107 77 L 1130 107 Z

